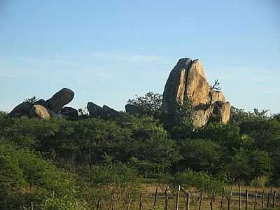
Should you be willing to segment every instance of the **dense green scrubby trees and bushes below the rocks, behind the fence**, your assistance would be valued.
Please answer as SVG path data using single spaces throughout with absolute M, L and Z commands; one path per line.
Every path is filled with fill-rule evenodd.
M 280 186 L 280 117 L 232 108 L 231 123 L 194 128 L 191 106 L 165 127 L 159 94 L 130 99 L 142 113 L 73 120 L 0 113 L 0 206 L 90 209 L 127 201 L 141 183 L 221 190 Z M 186 103 L 188 104 L 188 103 Z

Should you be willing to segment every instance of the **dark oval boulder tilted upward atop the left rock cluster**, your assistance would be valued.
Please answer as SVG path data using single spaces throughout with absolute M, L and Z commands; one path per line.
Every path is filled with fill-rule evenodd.
M 62 88 L 59 92 L 55 93 L 50 99 L 48 99 L 45 104 L 46 106 L 54 111 L 59 113 L 62 110 L 63 106 L 69 104 L 74 97 L 74 92 L 68 88 Z

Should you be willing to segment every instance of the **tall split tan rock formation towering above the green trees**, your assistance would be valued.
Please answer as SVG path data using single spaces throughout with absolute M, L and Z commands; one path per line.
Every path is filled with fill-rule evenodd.
M 209 85 L 198 59 L 179 59 L 165 85 L 162 110 L 172 116 L 176 104 L 182 104 L 184 99 L 189 99 L 194 106 L 193 121 L 197 127 L 206 125 L 210 118 L 219 123 L 230 120 L 230 102 L 225 102 L 223 92 Z

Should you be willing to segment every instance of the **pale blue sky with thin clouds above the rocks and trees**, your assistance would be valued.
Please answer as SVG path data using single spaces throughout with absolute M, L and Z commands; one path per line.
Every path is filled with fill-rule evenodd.
M 62 87 L 123 110 L 202 61 L 233 106 L 280 112 L 280 1 L 0 1 L 0 110 Z

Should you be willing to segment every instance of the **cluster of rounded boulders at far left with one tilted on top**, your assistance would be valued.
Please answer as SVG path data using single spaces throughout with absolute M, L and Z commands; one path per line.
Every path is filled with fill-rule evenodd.
M 40 99 L 34 104 L 22 102 L 16 106 L 8 116 L 18 118 L 26 116 L 28 118 L 49 119 L 55 116 L 65 116 L 66 118 L 78 117 L 78 111 L 71 107 L 64 107 L 73 100 L 74 92 L 68 88 L 62 88 L 47 101 Z

